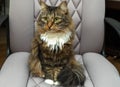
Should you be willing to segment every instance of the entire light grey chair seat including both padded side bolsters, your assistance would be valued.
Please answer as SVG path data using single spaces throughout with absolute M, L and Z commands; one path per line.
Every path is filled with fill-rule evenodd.
M 29 76 L 29 55 L 27 52 L 17 52 L 7 58 L 0 71 L 0 87 L 57 87 L 46 84 L 41 78 Z M 75 55 L 75 58 L 85 69 L 84 87 L 120 86 L 118 71 L 100 54 L 86 53 Z

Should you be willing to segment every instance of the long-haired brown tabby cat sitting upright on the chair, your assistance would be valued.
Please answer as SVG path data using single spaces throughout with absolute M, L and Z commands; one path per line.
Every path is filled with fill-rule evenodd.
M 83 85 L 84 70 L 74 57 L 75 28 L 67 2 L 62 1 L 57 7 L 48 6 L 42 0 L 39 3 L 41 11 L 32 42 L 30 73 L 45 78 L 47 83 L 65 87 Z

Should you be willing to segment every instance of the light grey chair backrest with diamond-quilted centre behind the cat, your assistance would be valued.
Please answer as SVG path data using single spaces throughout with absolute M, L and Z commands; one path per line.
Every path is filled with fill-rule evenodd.
M 58 5 L 62 0 L 45 0 Z M 75 23 L 74 50 L 77 54 L 100 52 L 104 40 L 105 0 L 66 0 Z M 30 51 L 38 0 L 11 0 L 9 10 L 10 48 L 12 52 Z

